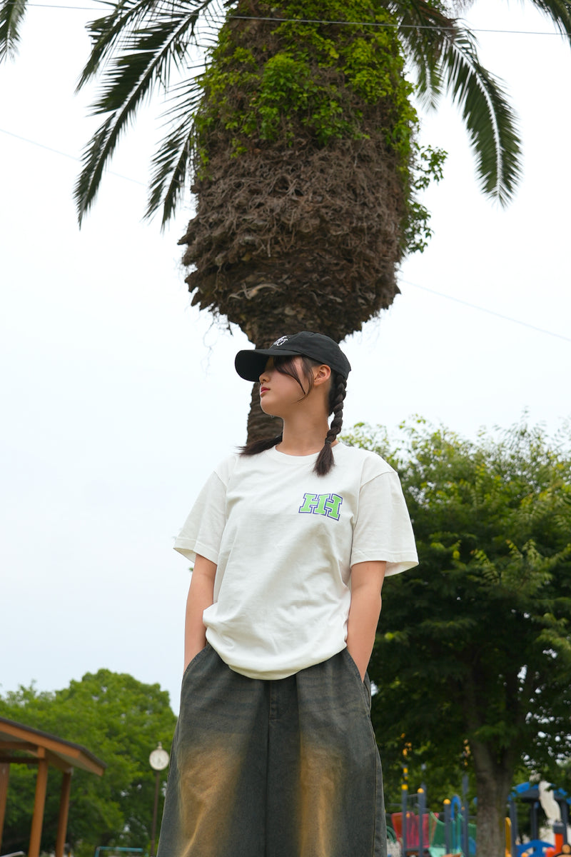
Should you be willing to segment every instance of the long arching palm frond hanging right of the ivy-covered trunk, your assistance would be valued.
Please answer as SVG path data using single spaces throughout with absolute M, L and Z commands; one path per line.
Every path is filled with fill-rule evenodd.
M 520 137 L 501 82 L 479 62 L 473 34 L 446 39 L 443 74 L 476 153 L 480 189 L 506 205 L 521 174 Z

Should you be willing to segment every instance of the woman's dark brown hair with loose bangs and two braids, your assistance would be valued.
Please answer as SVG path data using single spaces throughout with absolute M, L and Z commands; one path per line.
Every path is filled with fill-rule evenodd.
M 312 367 L 320 365 L 321 363 L 317 360 L 311 360 L 309 357 L 301 357 L 301 369 L 303 371 L 304 380 L 306 381 L 306 389 L 301 382 L 300 373 L 295 365 L 295 357 L 276 357 L 274 359 L 274 369 L 276 369 L 277 372 L 281 372 L 282 375 L 289 375 L 290 378 L 293 378 L 294 381 L 297 381 L 300 385 L 302 393 L 300 401 L 301 399 L 305 399 L 312 391 Z M 346 387 L 346 379 L 331 369 L 328 414 L 333 414 L 334 416 L 331 420 L 327 436 L 325 437 L 324 445 L 321 447 L 317 461 L 313 467 L 313 471 L 317 473 L 318 476 L 325 476 L 325 474 L 329 473 L 331 467 L 335 464 L 331 444 L 335 442 L 337 434 L 341 431 L 343 423 L 343 399 L 345 399 Z M 272 437 L 268 440 L 253 440 L 252 443 L 248 443 L 246 446 L 240 447 L 240 454 L 258 455 L 259 452 L 264 452 L 266 449 L 271 449 L 272 446 L 277 446 L 277 444 L 281 443 L 282 440 L 283 434 L 277 434 L 276 437 Z

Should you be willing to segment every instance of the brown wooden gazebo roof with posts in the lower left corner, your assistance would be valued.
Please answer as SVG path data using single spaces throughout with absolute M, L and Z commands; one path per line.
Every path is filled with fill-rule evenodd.
M 41 732 L 23 723 L 0 717 L 0 848 L 10 764 L 37 764 L 36 797 L 33 805 L 32 830 L 28 857 L 39 857 L 39 844 L 44 820 L 45 791 L 48 766 L 62 771 L 62 794 L 57 824 L 56 857 L 62 857 L 68 828 L 69 793 L 74 768 L 102 776 L 105 763 L 80 744 L 66 741 L 48 732 Z

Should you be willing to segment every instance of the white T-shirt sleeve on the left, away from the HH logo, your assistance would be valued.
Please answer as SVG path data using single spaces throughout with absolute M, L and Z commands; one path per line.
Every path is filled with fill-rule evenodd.
M 214 472 L 205 482 L 176 537 L 175 550 L 191 562 L 196 560 L 196 554 L 200 554 L 217 563 L 225 524 L 226 486 L 217 472 Z

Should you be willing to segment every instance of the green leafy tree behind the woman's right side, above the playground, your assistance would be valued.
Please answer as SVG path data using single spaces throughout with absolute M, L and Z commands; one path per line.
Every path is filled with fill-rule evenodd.
M 419 548 L 385 585 L 372 656 L 390 788 L 407 744 L 411 785 L 434 768 L 438 800 L 468 770 L 479 854 L 503 857 L 522 766 L 571 786 L 571 435 L 521 423 L 470 442 L 419 422 L 396 452 L 380 429 L 351 440 L 399 470 Z

